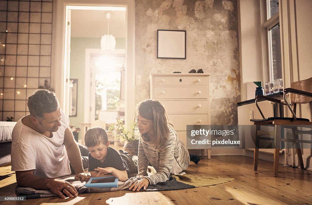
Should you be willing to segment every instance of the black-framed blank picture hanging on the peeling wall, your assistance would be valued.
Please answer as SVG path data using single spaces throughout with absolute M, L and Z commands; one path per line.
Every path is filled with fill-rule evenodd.
M 186 59 L 186 31 L 157 30 L 157 58 Z

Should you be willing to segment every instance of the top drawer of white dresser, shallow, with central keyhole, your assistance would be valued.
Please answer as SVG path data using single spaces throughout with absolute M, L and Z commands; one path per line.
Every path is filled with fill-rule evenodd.
M 154 85 L 208 85 L 206 76 L 154 76 Z

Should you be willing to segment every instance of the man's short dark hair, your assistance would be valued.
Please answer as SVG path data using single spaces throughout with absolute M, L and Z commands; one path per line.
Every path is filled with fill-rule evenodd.
M 27 106 L 30 115 L 41 120 L 44 113 L 51 113 L 60 109 L 55 93 L 44 89 L 36 90 L 29 96 L 27 98 Z

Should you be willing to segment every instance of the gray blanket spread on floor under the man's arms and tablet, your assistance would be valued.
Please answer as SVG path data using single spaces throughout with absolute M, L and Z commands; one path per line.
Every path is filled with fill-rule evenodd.
M 85 182 L 76 181 L 75 175 L 67 176 L 63 179 L 71 183 L 77 190 L 78 194 L 81 193 L 101 193 L 101 192 L 114 192 L 118 190 L 127 189 L 138 179 L 136 177 L 129 178 L 125 183 L 118 185 L 117 188 L 95 188 L 95 187 L 85 187 Z M 17 196 L 26 196 L 29 198 L 45 198 L 45 197 L 56 197 L 57 194 L 51 192 L 51 190 L 37 190 L 33 188 L 16 187 Z

